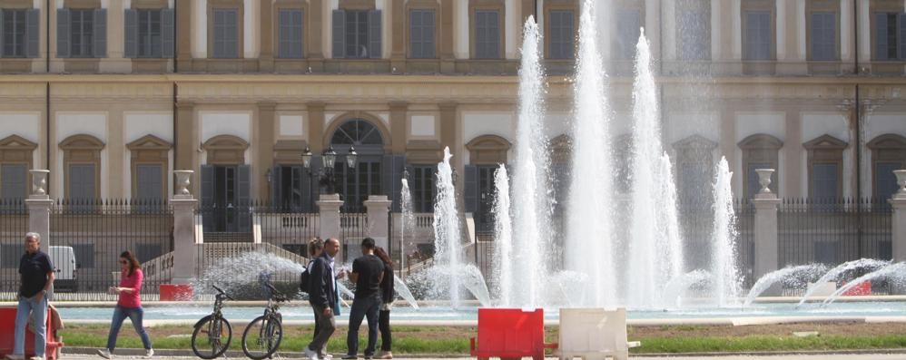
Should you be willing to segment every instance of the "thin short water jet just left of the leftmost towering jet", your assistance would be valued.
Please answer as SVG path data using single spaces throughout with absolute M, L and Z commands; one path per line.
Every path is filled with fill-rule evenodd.
M 494 277 L 497 278 L 497 294 L 500 304 L 513 303 L 513 287 L 516 274 L 513 274 L 513 224 L 509 216 L 509 178 L 507 167 L 500 165 L 494 172 L 494 186 L 497 198 L 494 199 Z

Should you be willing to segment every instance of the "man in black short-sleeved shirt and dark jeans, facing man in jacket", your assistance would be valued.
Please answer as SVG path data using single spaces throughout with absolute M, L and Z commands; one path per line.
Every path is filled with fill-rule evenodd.
M 384 262 L 374 255 L 374 239 L 362 240 L 362 255 L 352 261 L 350 281 L 356 284 L 356 298 L 350 309 L 350 333 L 346 336 L 349 352 L 344 359 L 355 359 L 359 352 L 359 326 L 368 317 L 368 347 L 365 358 L 374 357 L 378 345 L 378 314 L 383 300 L 380 297 L 380 280 L 384 278 Z

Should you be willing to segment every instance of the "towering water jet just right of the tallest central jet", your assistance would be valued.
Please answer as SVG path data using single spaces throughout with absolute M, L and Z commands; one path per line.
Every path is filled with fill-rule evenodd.
M 657 85 L 652 71 L 651 49 L 641 31 L 635 46 L 635 83 L 633 84 L 633 152 L 631 180 L 631 213 L 629 229 L 629 271 L 626 273 L 628 301 L 631 306 L 658 306 L 657 299 L 672 277 L 679 276 L 673 262 L 675 248 L 666 237 L 666 229 L 676 223 L 675 196 L 665 211 L 661 188 L 673 183 L 664 176 L 661 163 L 660 110 Z M 669 169 L 669 165 L 667 167 Z M 666 173 L 665 173 L 666 172 Z M 672 219 L 667 219 L 672 216 Z M 678 231 L 676 231 L 678 233 Z M 678 241 L 678 240 L 677 240 Z M 681 257 L 682 255 L 679 255 Z M 681 266 L 681 265 L 680 265 Z

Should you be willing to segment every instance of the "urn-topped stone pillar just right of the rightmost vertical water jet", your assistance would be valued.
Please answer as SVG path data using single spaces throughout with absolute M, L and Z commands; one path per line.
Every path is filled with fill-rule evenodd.
M 759 278 L 777 269 L 777 206 L 780 199 L 768 188 L 771 185 L 773 169 L 758 169 L 762 190 L 755 195 L 755 263 L 753 277 Z

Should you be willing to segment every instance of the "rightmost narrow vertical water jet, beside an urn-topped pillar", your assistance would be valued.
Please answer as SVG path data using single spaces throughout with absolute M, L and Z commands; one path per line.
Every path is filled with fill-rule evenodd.
M 736 215 L 733 209 L 733 172 L 726 158 L 717 164 L 714 179 L 714 239 L 711 252 L 711 273 L 714 274 L 714 296 L 720 306 L 730 305 L 739 297 L 742 284 L 736 267 Z

